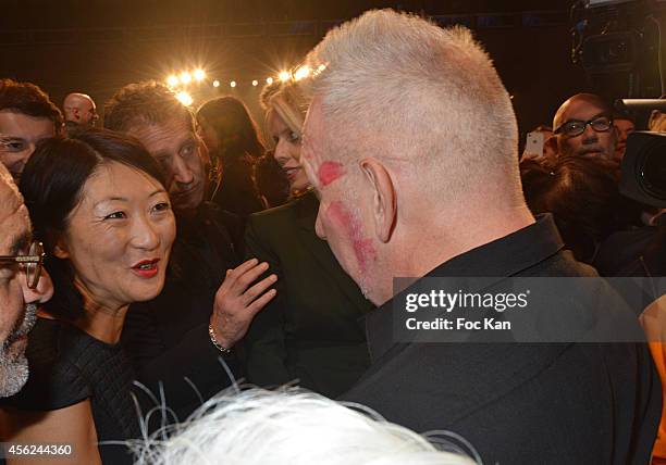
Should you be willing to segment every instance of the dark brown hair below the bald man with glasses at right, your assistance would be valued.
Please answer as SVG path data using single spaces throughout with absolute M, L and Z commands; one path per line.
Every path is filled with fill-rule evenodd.
M 591 263 L 610 234 L 640 225 L 640 205 L 619 193 L 619 164 L 600 158 L 562 156 L 553 165 L 520 164 L 522 188 L 534 214 L 553 213 L 565 244 Z

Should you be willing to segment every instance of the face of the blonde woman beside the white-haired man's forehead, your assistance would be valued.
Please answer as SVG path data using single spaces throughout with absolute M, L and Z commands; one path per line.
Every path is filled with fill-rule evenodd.
M 286 174 L 292 192 L 307 189 L 310 183 L 300 166 L 300 136 L 274 111 L 269 113 L 268 129 L 275 141 L 275 160 Z

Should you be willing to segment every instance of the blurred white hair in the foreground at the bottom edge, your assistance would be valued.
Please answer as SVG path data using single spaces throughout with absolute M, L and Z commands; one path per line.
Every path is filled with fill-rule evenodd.
M 138 449 L 138 465 L 472 465 L 423 436 L 300 390 L 223 391 Z M 437 441 L 437 445 L 443 441 Z M 135 448 L 136 449 L 136 448 Z M 459 449 L 458 449 L 459 450 Z

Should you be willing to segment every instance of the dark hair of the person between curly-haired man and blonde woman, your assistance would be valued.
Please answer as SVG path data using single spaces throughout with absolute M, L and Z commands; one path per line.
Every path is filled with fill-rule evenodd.
M 221 147 L 221 156 L 242 156 L 249 154 L 258 159 L 264 152 L 257 123 L 245 104 L 235 97 L 226 96 L 209 100 L 197 111 L 197 120 L 203 117 L 214 129 Z

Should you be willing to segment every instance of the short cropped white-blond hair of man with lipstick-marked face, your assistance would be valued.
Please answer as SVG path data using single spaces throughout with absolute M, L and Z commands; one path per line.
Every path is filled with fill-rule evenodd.
M 474 186 L 522 199 L 511 101 L 467 28 L 369 11 L 329 32 L 306 63 L 332 158 L 402 163 L 433 198 Z

